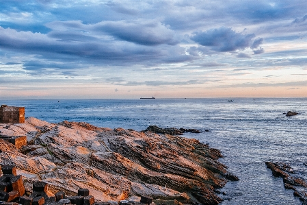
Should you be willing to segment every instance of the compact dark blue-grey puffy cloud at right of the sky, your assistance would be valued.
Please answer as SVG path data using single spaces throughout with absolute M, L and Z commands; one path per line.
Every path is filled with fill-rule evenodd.
M 228 27 L 219 27 L 218 29 L 206 30 L 206 32 L 194 32 L 191 40 L 200 45 L 211 47 L 214 51 L 228 52 L 250 47 L 254 37 L 254 34 L 241 34 Z

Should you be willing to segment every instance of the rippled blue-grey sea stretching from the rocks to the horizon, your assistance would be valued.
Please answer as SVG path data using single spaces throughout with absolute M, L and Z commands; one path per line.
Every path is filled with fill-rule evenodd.
M 14 100 L 0 104 L 25 106 L 26 117 L 51 123 L 84 121 L 99 127 L 145 130 L 163 128 L 209 130 L 185 134 L 220 149 L 228 171 L 239 182 L 221 191 L 222 204 L 301 204 L 284 189 L 265 161 L 287 162 L 307 180 L 307 98 L 273 99 L 81 99 Z M 285 117 L 284 112 L 300 114 Z

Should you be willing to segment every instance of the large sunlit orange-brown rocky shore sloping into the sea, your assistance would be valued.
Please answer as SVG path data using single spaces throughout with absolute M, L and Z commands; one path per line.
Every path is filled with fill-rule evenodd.
M 177 136 L 196 130 L 154 128 L 160 134 L 151 128 L 111 130 L 33 117 L 20 124 L 0 123 L 0 165 L 16 167 L 26 196 L 41 181 L 48 184 L 50 197 L 88 189 L 95 202 L 139 201 L 147 195 L 155 204 L 219 204 L 215 189 L 239 180 L 217 161 L 219 150 Z M 1 136 L 25 136 L 27 143 L 16 147 Z

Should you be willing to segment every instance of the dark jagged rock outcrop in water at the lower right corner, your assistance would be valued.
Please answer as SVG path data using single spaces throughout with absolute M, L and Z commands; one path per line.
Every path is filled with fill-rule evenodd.
M 273 176 L 283 178 L 284 188 L 293 189 L 293 195 L 299 197 L 302 204 L 307 204 L 307 183 L 295 177 L 295 171 L 284 162 L 265 162 L 267 168 L 271 169 Z

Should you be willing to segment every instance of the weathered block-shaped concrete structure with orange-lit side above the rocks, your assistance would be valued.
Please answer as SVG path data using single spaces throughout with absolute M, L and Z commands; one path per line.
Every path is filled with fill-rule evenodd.
M 0 107 L 0 123 L 25 123 L 25 107 Z

